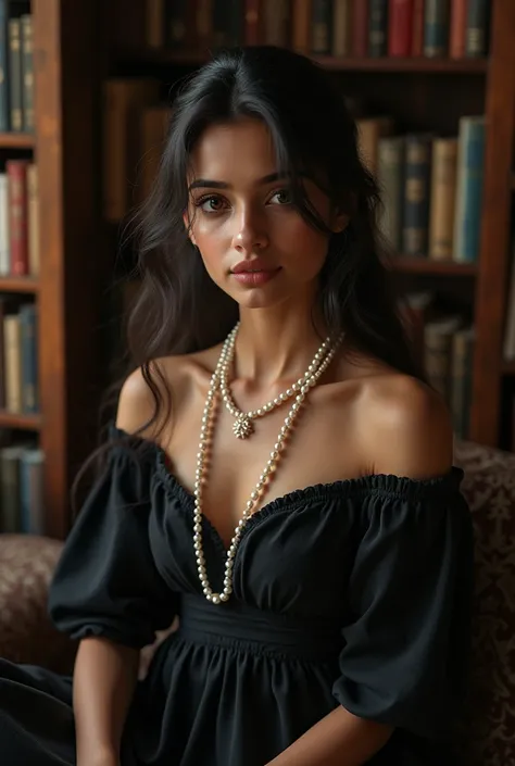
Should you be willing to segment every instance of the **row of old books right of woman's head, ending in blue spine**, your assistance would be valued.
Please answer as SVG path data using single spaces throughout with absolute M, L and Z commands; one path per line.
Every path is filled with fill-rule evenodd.
M 380 225 L 404 255 L 474 263 L 479 254 L 485 117 L 462 116 L 459 135 L 394 133 L 389 117 L 357 121 L 361 153 L 382 192 Z

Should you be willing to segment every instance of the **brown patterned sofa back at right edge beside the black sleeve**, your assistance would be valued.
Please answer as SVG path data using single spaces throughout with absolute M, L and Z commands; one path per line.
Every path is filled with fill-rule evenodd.
M 467 766 L 515 764 L 515 455 L 456 445 L 475 531 Z

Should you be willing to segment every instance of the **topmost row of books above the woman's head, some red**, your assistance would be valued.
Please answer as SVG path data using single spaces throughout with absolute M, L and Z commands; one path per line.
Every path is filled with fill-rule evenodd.
M 208 50 L 276 45 L 314 55 L 488 53 L 490 0 L 147 0 L 146 42 Z

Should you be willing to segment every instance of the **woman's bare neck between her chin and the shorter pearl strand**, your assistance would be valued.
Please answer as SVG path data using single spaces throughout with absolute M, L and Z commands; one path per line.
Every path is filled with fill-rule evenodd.
M 271 386 L 303 375 L 325 340 L 322 322 L 314 321 L 311 306 L 305 312 L 242 310 L 236 340 L 235 377 Z

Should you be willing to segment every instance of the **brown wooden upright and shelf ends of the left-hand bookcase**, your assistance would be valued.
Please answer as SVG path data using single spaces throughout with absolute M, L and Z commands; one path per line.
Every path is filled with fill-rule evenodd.
M 38 437 L 46 527 L 56 538 L 71 526 L 71 485 L 96 444 L 103 385 L 95 332 L 104 267 L 97 187 L 101 4 L 32 0 L 35 133 L 0 133 L 2 159 L 29 156 L 37 164 L 40 236 L 38 277 L 0 277 L 0 292 L 38 305 L 40 413 L 0 410 L 0 428 Z

